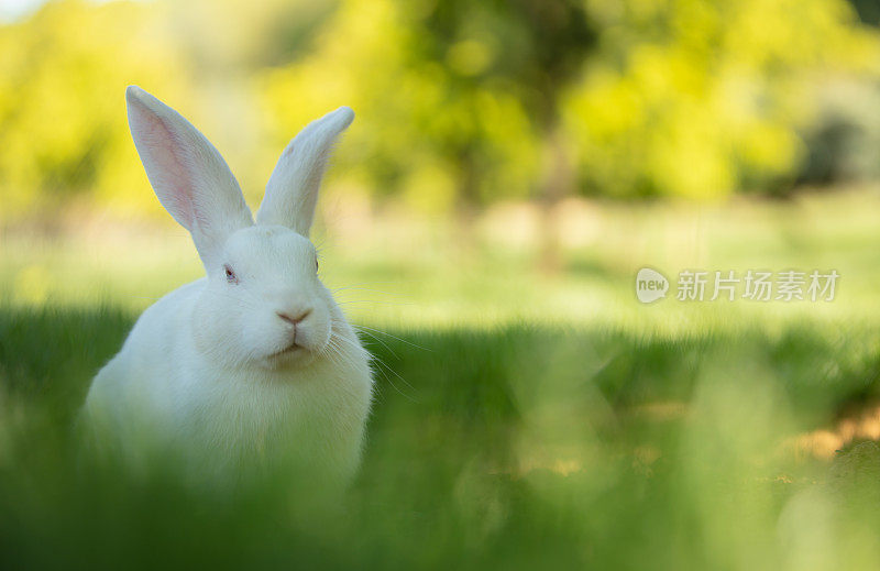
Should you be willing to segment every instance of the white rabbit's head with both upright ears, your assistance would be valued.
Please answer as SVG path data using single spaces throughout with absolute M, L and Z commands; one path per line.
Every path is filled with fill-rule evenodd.
M 189 319 L 199 351 L 265 367 L 321 354 L 342 315 L 318 278 L 308 235 L 328 155 L 354 119 L 351 109 L 318 119 L 290 142 L 254 223 L 234 176 L 195 127 L 138 87 L 129 87 L 127 99 L 150 183 L 193 235 L 208 274 Z

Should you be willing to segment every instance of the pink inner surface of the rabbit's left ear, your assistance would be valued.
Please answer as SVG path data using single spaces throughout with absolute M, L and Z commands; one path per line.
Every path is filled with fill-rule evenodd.
M 133 101 L 132 132 L 146 174 L 162 206 L 187 230 L 196 219 L 191 163 L 186 142 L 160 116 L 141 101 Z M 191 166 L 191 165 L 190 165 Z

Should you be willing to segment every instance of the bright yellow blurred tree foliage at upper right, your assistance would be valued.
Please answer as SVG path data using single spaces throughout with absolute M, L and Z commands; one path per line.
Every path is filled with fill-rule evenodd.
M 817 90 L 878 77 L 877 34 L 844 0 L 588 6 L 602 47 L 568 94 L 565 125 L 595 194 L 789 189 Z

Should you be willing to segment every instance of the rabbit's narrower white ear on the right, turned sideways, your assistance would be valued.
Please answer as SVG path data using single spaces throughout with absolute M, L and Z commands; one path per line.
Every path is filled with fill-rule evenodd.
M 306 125 L 290 141 L 266 185 L 266 196 L 256 212 L 258 224 L 280 224 L 309 234 L 327 160 L 337 136 L 353 119 L 350 108 L 340 107 Z

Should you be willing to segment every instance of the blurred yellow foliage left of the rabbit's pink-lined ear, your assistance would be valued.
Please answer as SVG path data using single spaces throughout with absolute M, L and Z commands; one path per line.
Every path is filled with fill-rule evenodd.
M 154 200 L 131 145 L 124 88 L 179 91 L 174 41 L 154 7 L 51 2 L 0 26 L 0 193 L 4 218 L 79 195 Z

